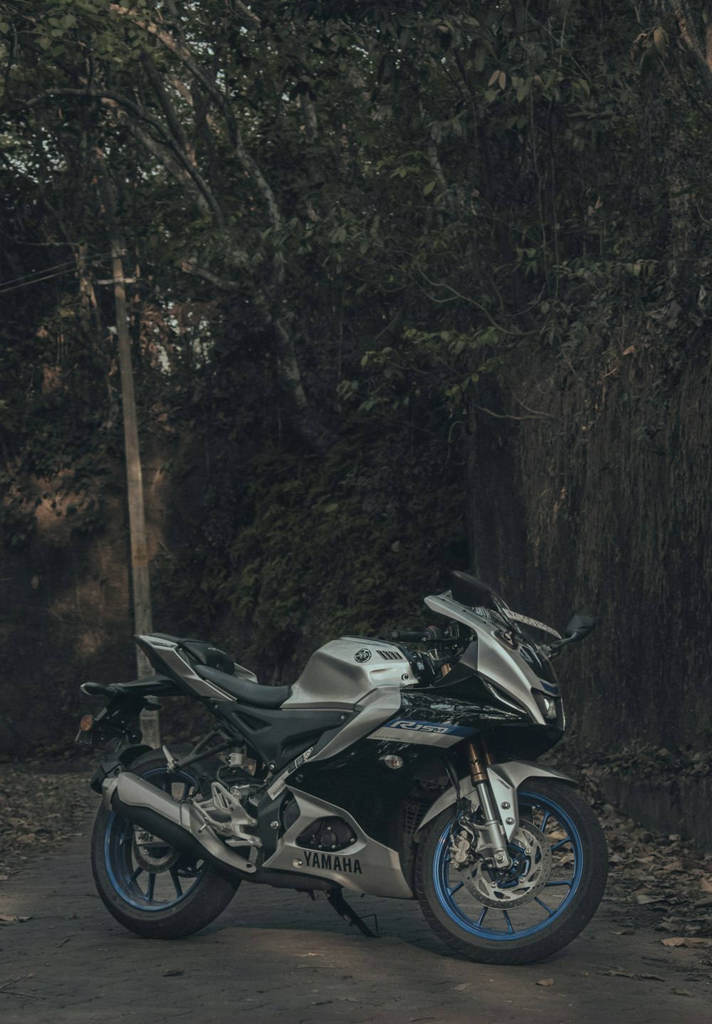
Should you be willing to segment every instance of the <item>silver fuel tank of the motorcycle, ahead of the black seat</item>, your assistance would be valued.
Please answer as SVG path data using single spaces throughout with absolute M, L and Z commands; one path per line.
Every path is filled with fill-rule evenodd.
M 355 705 L 382 686 L 417 683 L 408 658 L 387 640 L 339 637 L 316 650 L 283 708 Z

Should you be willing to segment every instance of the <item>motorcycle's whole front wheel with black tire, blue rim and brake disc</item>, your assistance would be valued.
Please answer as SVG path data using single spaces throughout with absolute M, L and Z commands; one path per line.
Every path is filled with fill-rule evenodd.
M 416 893 L 430 927 L 461 955 L 528 964 L 556 952 L 593 916 L 605 889 L 608 850 L 591 808 L 569 786 L 531 779 L 507 870 L 451 860 L 452 808 L 430 824 L 416 860 Z

